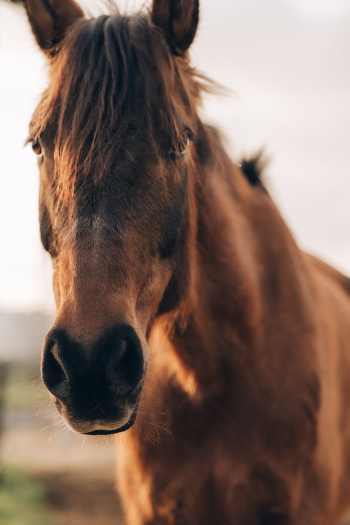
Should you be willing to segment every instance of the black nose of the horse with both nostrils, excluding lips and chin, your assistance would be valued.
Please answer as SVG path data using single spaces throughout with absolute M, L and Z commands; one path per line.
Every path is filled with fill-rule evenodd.
M 143 370 L 141 342 L 128 325 L 106 330 L 90 345 L 81 344 L 66 330 L 52 330 L 41 362 L 43 381 L 60 400 L 78 391 L 95 398 L 105 392 L 128 396 L 139 384 Z

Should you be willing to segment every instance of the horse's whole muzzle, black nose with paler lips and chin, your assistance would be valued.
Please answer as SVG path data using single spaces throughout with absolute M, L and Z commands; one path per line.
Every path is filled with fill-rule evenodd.
M 82 344 L 55 328 L 45 341 L 41 375 L 63 420 L 81 434 L 115 434 L 137 416 L 147 366 L 130 325 L 105 330 Z

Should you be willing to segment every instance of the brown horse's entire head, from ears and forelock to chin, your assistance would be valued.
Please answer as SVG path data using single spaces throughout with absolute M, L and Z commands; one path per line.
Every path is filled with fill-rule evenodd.
M 154 2 L 153 22 L 148 15 L 86 21 L 75 3 L 56 9 L 52 2 L 49 13 L 37 4 L 28 1 L 27 12 L 51 57 L 50 86 L 30 134 L 57 307 L 42 376 L 73 430 L 121 432 L 135 421 L 150 363 L 147 339 L 173 306 L 185 250 L 197 119 L 187 60 L 174 53 L 186 53 L 198 5 L 188 3 L 188 27 L 168 19 L 166 28 L 177 29 L 160 38 L 171 17 L 164 2 Z M 55 40 L 48 16 L 58 18 Z

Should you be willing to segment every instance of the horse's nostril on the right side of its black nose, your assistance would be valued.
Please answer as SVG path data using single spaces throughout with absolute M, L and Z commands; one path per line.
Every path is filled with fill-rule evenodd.
M 120 342 L 118 355 L 112 359 L 113 390 L 126 395 L 139 384 L 143 373 L 143 358 L 139 340 L 124 338 Z

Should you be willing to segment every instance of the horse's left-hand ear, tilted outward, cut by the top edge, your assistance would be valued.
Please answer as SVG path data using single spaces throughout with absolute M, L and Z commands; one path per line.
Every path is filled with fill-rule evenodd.
M 25 7 L 37 43 L 49 56 L 68 27 L 84 16 L 74 0 L 26 0 Z

